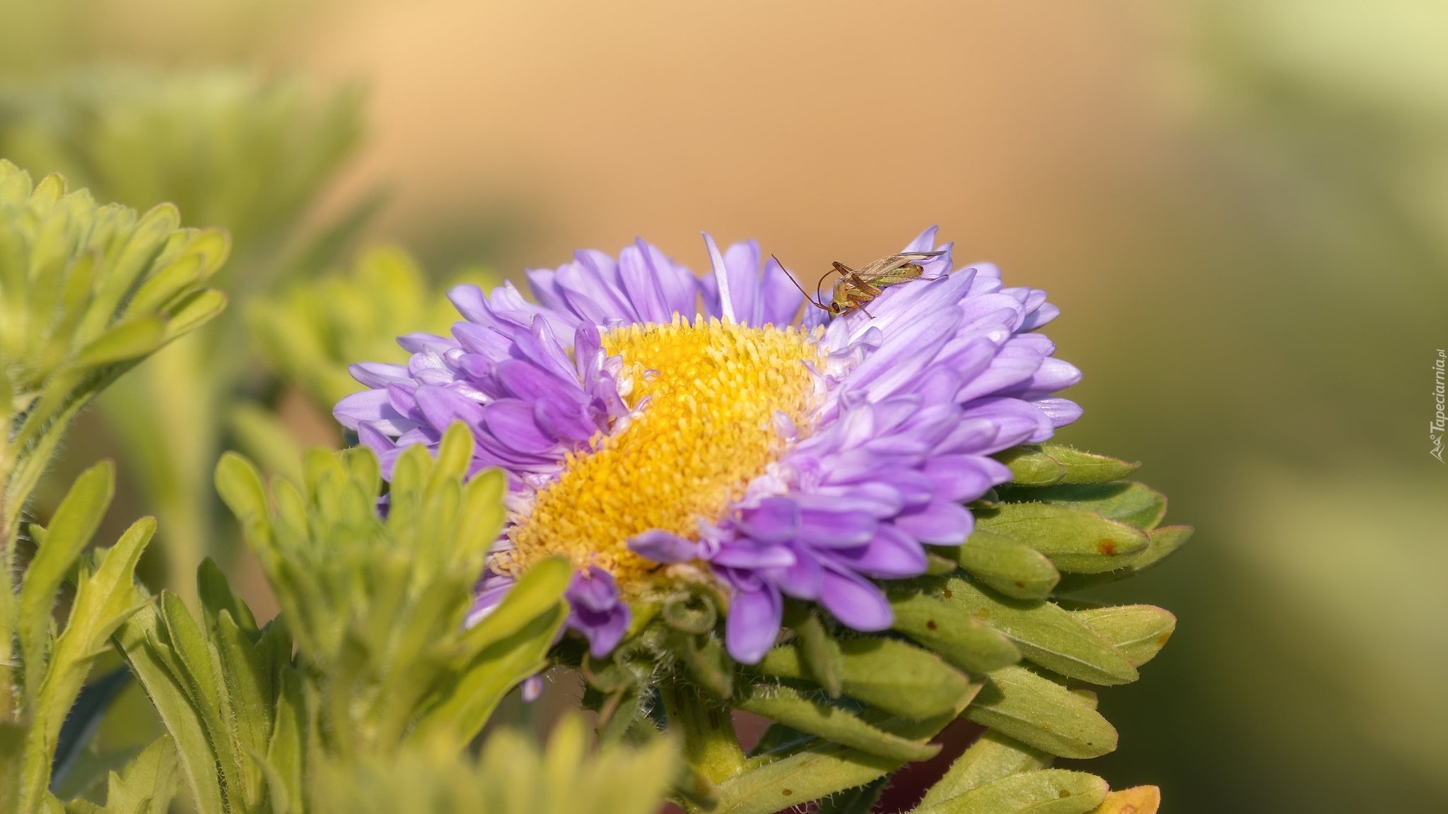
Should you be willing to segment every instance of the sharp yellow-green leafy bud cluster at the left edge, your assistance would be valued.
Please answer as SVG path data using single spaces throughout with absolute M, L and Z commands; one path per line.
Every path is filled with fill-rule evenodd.
M 97 206 L 0 159 L 0 534 L 70 420 L 117 375 L 226 306 L 206 281 L 229 238 L 177 209 Z

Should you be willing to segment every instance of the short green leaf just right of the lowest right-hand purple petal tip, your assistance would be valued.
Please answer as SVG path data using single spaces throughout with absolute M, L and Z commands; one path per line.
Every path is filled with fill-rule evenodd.
M 950 595 L 948 587 L 944 595 Z M 1005 636 L 948 601 L 902 587 L 892 588 L 889 600 L 895 630 L 966 672 L 990 672 L 1021 660 L 1021 650 Z

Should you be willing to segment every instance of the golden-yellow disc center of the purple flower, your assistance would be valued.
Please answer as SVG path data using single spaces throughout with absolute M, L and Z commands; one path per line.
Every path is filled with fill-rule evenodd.
M 815 384 L 804 362 L 821 353 L 811 335 L 792 327 L 702 317 L 631 324 L 602 339 L 608 355 L 623 356 L 623 375 L 633 381 L 626 401 L 637 414 L 591 452 L 568 456 L 563 474 L 513 527 L 515 549 L 500 565 L 517 571 L 563 555 L 610 571 L 637 594 L 659 568 L 627 540 L 650 529 L 696 540 L 699 519 L 723 517 L 783 453 L 775 413 L 807 429 Z

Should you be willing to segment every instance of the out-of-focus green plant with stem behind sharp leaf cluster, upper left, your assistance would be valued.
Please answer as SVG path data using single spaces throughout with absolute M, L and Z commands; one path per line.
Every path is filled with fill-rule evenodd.
M 243 300 L 334 262 L 375 211 L 379 198 L 366 197 L 307 226 L 359 136 L 356 88 L 245 71 L 91 70 L 0 88 L 0 154 L 71 172 L 104 197 L 178 201 L 224 225 L 233 262 L 216 284 Z M 227 553 L 209 472 L 230 404 L 264 379 L 248 348 L 240 314 L 229 316 L 101 401 L 129 481 L 161 519 L 165 579 L 190 601 L 201 559 Z

